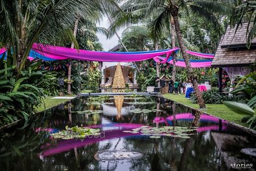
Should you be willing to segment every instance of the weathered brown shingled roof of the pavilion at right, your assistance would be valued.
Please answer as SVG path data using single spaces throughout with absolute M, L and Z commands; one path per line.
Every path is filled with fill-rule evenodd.
M 246 29 L 247 23 L 243 23 L 234 36 L 236 28 L 227 28 L 221 37 L 212 67 L 250 66 L 256 62 L 256 47 L 246 48 Z M 256 39 L 253 43 L 256 44 Z

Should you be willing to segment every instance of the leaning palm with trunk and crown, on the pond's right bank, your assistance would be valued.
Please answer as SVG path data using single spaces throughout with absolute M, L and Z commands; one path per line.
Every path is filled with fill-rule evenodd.
M 190 2 L 190 1 L 189 1 Z M 199 87 L 197 85 L 197 75 L 193 72 L 191 63 L 189 62 L 189 56 L 187 53 L 187 48 L 185 47 L 183 37 L 180 31 L 179 25 L 179 7 L 183 7 L 184 9 L 188 10 L 187 5 L 188 3 L 185 1 L 178 1 L 177 4 L 175 1 L 170 0 L 154 0 L 148 1 L 146 0 L 130 0 L 123 4 L 121 7 L 122 13 L 117 15 L 114 14 L 113 20 L 114 24 L 112 24 L 112 30 L 115 30 L 123 25 L 140 22 L 142 19 L 150 16 L 156 16 L 150 24 L 149 27 L 151 28 L 152 35 L 155 39 L 158 39 L 161 35 L 163 28 L 170 27 L 171 18 L 174 20 L 174 26 L 176 31 L 177 40 L 180 45 L 181 54 L 183 55 L 183 59 L 187 66 L 188 71 L 188 79 L 192 81 L 193 87 L 196 92 L 196 97 L 199 102 L 200 109 L 205 108 L 204 100 L 200 93 Z M 179 5 L 179 6 L 178 6 Z M 200 7 L 198 7 L 202 10 Z M 202 10 L 203 11 L 203 10 Z M 201 15 L 205 15 L 210 19 L 212 22 L 218 23 L 217 19 L 210 12 L 203 13 L 202 11 L 197 11 Z M 218 25 L 216 25 L 218 26 Z

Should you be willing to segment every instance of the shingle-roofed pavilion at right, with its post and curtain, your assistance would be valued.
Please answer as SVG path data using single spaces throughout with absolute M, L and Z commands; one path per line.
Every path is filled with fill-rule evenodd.
M 225 68 L 229 74 L 230 80 L 235 80 L 233 77 L 237 74 L 248 74 L 251 70 L 255 70 L 256 63 L 256 37 L 251 41 L 251 46 L 248 49 L 247 43 L 247 24 L 243 23 L 239 26 L 231 28 L 228 26 L 225 34 L 221 37 L 212 67 L 220 68 L 219 72 L 219 88 L 222 91 L 222 68 Z M 251 27 L 251 26 L 250 26 Z M 234 80 L 232 80 L 234 79 Z

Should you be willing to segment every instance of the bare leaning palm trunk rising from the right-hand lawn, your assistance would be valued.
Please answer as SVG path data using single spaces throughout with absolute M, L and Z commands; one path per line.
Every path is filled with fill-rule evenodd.
M 199 104 L 200 109 L 205 108 L 205 103 L 204 103 L 204 99 L 202 97 L 202 94 L 199 90 L 197 81 L 196 81 L 196 77 L 197 75 L 193 72 L 191 63 L 189 61 L 189 56 L 187 53 L 187 48 L 185 47 L 185 44 L 183 42 L 183 38 L 181 35 L 181 31 L 180 31 L 180 24 L 179 24 L 179 18 L 178 18 L 178 7 L 174 5 L 171 6 L 171 15 L 174 19 L 174 25 L 175 25 L 175 31 L 176 31 L 176 35 L 177 35 L 177 40 L 179 41 L 179 45 L 180 45 L 180 49 L 181 49 L 181 53 L 183 56 L 183 59 L 185 61 L 187 70 L 188 70 L 188 79 L 192 81 L 193 87 L 196 91 L 196 97 L 197 97 L 197 102 Z

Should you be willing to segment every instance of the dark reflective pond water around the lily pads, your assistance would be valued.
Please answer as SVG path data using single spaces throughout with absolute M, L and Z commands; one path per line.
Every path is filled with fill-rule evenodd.
M 76 112 L 84 110 L 99 112 Z M 67 140 L 51 136 L 66 126 L 99 128 L 102 136 Z M 151 138 L 141 132 L 129 132 L 144 126 L 195 129 L 189 132 L 190 138 L 164 134 Z M 225 120 L 157 96 L 79 97 L 0 134 L 1 171 L 255 170 L 256 164 L 255 157 L 240 152 L 255 148 L 253 135 Z M 96 160 L 97 153 L 105 151 L 107 157 L 114 158 Z M 131 159 L 118 151 L 128 152 L 128 158 L 132 153 Z M 137 153 L 141 156 L 133 158 Z M 245 169 L 233 164 L 253 167 Z

